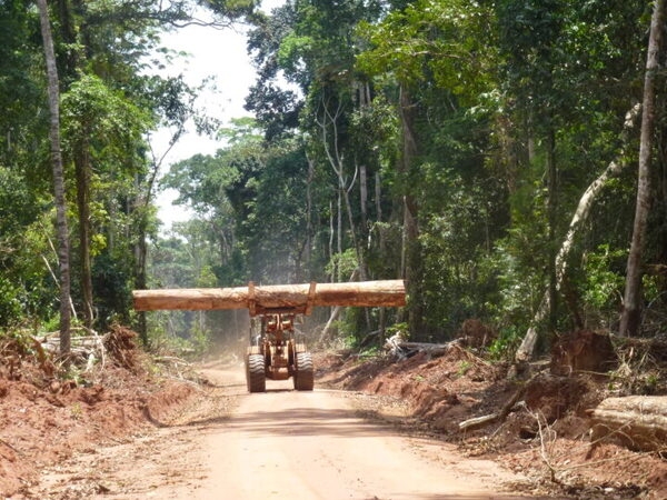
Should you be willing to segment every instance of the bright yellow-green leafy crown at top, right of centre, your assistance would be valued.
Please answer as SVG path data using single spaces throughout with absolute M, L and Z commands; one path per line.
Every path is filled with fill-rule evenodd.
M 484 2 L 419 0 L 392 10 L 378 24 L 361 23 L 360 36 L 370 48 L 357 59 L 371 74 L 389 70 L 408 87 L 427 78 L 467 99 L 492 84 L 494 33 L 492 12 Z

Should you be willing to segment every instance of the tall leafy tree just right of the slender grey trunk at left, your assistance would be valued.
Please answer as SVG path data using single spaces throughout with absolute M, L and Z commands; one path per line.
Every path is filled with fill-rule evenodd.
M 182 81 L 179 86 L 178 79 L 156 83 L 159 78 L 142 74 L 145 58 L 158 46 L 160 29 L 188 23 L 228 27 L 232 18 L 250 14 L 253 6 L 243 1 L 235 6 L 211 4 L 215 13 L 206 21 L 197 18 L 200 12 L 189 1 L 120 4 L 64 0 L 59 7 L 60 40 L 67 46 L 67 50 L 59 51 L 67 111 L 62 118 L 68 132 L 64 168 L 73 167 L 77 181 L 79 238 L 73 241 L 72 251 L 79 257 L 74 273 L 80 284 L 74 288 L 76 303 L 82 308 L 87 327 L 92 326 L 93 309 L 103 313 L 98 318 L 103 327 L 109 318 L 127 313 L 107 310 L 111 303 L 116 308 L 123 301 L 96 298 L 93 287 L 109 290 L 109 282 L 122 280 L 125 268 L 131 262 L 127 258 L 118 260 L 118 251 L 113 254 L 106 244 L 137 242 L 137 284 L 141 287 L 145 281 L 143 243 L 139 241 L 150 227 L 148 219 L 155 217 L 147 206 L 157 171 L 155 162 L 149 164 L 146 158 L 146 132 L 157 127 L 162 117 L 170 122 L 182 119 L 181 123 L 192 117 L 192 100 L 188 99 L 191 89 Z M 176 140 L 178 137 L 177 133 Z M 143 189 L 146 198 L 141 198 Z M 141 200 L 135 203 L 132 197 Z M 135 212 L 135 223 L 129 221 L 132 217 L 129 212 Z M 122 217 L 111 221 L 112 213 Z M 125 221 L 126 226 L 121 228 L 118 221 Z M 103 260 L 99 266 L 98 256 Z M 129 288 L 119 290 L 129 297 Z M 104 303 L 100 304 L 100 300 Z

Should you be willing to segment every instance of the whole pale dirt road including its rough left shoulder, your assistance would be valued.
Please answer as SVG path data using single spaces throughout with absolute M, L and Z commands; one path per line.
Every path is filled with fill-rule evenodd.
M 269 381 L 248 394 L 240 370 L 203 376 L 207 393 L 182 414 L 50 470 L 34 498 L 527 498 L 499 492 L 518 478 L 491 461 L 359 418 L 345 392 Z

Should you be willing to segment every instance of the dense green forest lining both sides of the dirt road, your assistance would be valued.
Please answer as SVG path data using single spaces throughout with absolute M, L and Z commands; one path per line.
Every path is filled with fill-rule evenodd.
M 51 22 L 72 307 L 88 326 L 140 321 L 133 288 L 341 281 L 355 272 L 404 278 L 410 300 L 389 316 L 348 311 L 338 329 L 352 339 L 397 323 L 415 339 L 445 340 L 479 319 L 498 332 L 500 352 L 529 328 L 544 346 L 570 329 L 618 331 L 653 3 L 59 7 Z M 253 118 L 207 121 L 198 89 L 145 71 L 160 31 L 202 22 L 201 9 L 217 28 L 249 28 Z M 58 316 L 58 270 L 37 12 L 2 2 L 0 27 L 0 321 L 46 323 Z M 664 332 L 667 313 L 666 53 L 650 80 L 653 146 L 644 150 L 651 188 L 638 268 L 641 334 Z M 167 124 L 178 141 L 192 119 L 217 134 L 218 151 L 179 161 L 160 179 L 147 138 Z M 169 233 L 156 217 L 163 188 L 195 213 Z M 230 334 L 183 318 L 212 337 Z M 150 328 L 168 326 L 138 328 L 149 341 Z

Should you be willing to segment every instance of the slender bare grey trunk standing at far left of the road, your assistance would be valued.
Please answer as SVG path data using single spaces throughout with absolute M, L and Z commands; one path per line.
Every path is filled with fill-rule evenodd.
M 56 67 L 56 52 L 53 37 L 49 24 L 49 9 L 47 0 L 38 0 L 41 33 L 47 61 L 47 76 L 49 79 L 49 111 L 51 124 L 49 136 L 51 140 L 51 163 L 53 169 L 53 192 L 56 197 L 56 217 L 58 228 L 58 261 L 60 264 L 60 353 L 67 360 L 71 350 L 70 340 L 70 262 L 69 262 L 69 230 L 67 224 L 67 202 L 64 199 L 64 174 L 62 169 L 62 154 L 60 151 L 60 91 L 58 89 L 58 69 Z

